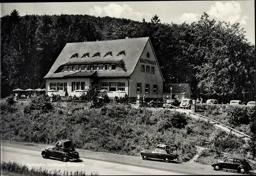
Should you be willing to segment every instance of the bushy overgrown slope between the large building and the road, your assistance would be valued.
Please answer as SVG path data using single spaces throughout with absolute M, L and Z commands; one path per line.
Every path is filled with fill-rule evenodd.
M 48 103 L 37 97 L 27 105 L 7 103 L 1 107 L 2 139 L 54 144 L 68 138 L 77 148 L 131 156 L 138 156 L 142 149 L 153 149 L 157 143 L 167 143 L 184 162 L 194 158 L 196 146 L 255 159 L 252 144 L 232 135 L 227 140 L 226 133 L 209 122 L 179 112 L 123 104 L 88 109 L 84 104 Z

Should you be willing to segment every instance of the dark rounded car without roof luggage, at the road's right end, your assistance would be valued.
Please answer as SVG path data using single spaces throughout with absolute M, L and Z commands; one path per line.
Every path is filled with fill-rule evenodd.
M 248 173 L 252 170 L 249 162 L 245 158 L 229 157 L 225 160 L 218 160 L 211 164 L 214 170 L 236 170 L 238 173 Z

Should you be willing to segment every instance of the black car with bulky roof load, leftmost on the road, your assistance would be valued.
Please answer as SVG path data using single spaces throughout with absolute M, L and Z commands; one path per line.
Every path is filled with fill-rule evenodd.
M 65 162 L 80 160 L 79 154 L 70 140 L 57 141 L 54 147 L 45 149 L 41 155 L 42 158 L 56 158 Z

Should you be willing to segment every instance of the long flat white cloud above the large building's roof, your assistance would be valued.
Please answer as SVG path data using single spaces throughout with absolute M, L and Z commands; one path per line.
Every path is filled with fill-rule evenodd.
M 114 3 L 111 3 L 108 6 L 104 7 L 94 6 L 93 9 L 89 10 L 89 14 L 101 17 L 110 16 L 116 18 L 127 18 L 137 21 L 141 21 L 142 18 L 145 18 L 146 21 L 150 21 L 150 18 L 153 16 L 150 13 L 141 13 L 133 11 L 133 8 L 129 5 L 123 4 L 122 6 L 119 6 Z

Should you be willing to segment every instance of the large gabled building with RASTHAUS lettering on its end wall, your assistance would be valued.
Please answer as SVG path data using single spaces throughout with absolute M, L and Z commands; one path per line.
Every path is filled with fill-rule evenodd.
M 48 95 L 79 96 L 96 84 L 109 97 L 162 98 L 163 76 L 150 38 L 67 43 L 46 79 Z

